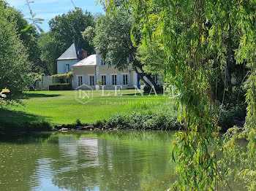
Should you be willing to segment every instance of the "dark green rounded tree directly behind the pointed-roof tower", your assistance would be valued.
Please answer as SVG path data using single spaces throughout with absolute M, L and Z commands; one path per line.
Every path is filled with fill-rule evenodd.
M 39 39 L 42 52 L 41 59 L 48 67 L 50 74 L 56 73 L 56 59 L 75 42 L 89 55 L 94 52 L 93 47 L 83 39 L 81 34 L 89 26 L 94 26 L 94 16 L 90 12 L 83 12 L 76 7 L 67 14 L 58 15 L 49 22 L 50 31 Z

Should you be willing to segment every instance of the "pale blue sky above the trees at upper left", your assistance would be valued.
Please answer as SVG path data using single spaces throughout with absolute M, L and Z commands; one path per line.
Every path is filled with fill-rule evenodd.
M 10 6 L 19 9 L 25 17 L 29 17 L 29 8 L 25 5 L 26 0 L 6 0 Z M 31 8 L 37 17 L 44 19 L 41 27 L 47 32 L 49 31 L 48 21 L 56 15 L 67 13 L 70 9 L 74 9 L 71 0 L 31 0 Z M 104 12 L 101 4 L 96 5 L 95 0 L 73 0 L 76 7 L 87 10 L 91 13 Z

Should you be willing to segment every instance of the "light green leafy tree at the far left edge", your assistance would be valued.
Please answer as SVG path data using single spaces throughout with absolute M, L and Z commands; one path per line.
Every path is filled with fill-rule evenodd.
M 10 19 L 7 5 L 0 1 L 0 87 L 11 91 L 7 98 L 15 98 L 29 84 L 29 56 L 20 35 L 16 20 Z

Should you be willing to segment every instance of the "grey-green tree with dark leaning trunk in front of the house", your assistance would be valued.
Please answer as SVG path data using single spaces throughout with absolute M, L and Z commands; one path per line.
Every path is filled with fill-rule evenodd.
M 127 69 L 132 66 L 140 79 L 143 79 L 146 85 L 149 83 L 143 78 L 147 77 L 156 89 L 159 86 L 152 79 L 151 74 L 146 73 L 143 69 L 143 64 L 138 60 L 138 48 L 132 43 L 130 32 L 132 30 L 133 17 L 127 12 L 118 11 L 116 15 L 101 15 L 97 18 L 94 33 L 91 28 L 85 31 L 85 38 L 92 39 L 93 44 L 97 47 L 102 55 L 102 58 L 113 64 L 117 69 Z M 140 36 L 136 36 L 140 42 Z

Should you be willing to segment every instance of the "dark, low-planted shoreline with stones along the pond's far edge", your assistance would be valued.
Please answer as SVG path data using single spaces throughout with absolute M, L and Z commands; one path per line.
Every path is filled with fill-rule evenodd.
M 145 119 L 140 119 L 140 122 Z M 165 119 L 166 120 L 166 119 Z M 17 133 L 40 133 L 40 132 L 55 132 L 55 131 L 73 131 L 73 130 L 184 130 L 184 125 L 177 122 L 176 118 L 173 118 L 169 123 L 163 124 L 165 120 L 160 120 L 159 123 L 151 125 L 137 124 L 134 125 L 131 121 L 127 121 L 120 118 L 114 118 L 114 122 L 110 121 L 97 121 L 92 124 L 84 123 L 82 124 L 79 120 L 73 124 L 67 125 L 53 125 L 50 122 L 39 121 L 36 123 L 23 124 L 4 124 L 3 127 L 0 126 L 0 134 L 17 134 Z M 243 128 L 244 125 L 236 125 Z M 231 127 L 230 127 L 231 128 Z M 227 132 L 227 129 L 220 130 L 221 133 Z

